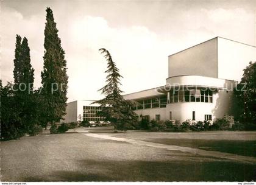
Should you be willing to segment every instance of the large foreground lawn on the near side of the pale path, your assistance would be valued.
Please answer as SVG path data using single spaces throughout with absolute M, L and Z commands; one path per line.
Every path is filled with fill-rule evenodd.
M 144 134 L 148 135 L 128 132 L 116 136 L 148 138 Z M 160 135 L 157 133 L 158 138 Z M 1 181 L 255 181 L 255 169 L 256 164 L 82 133 L 1 142 Z

